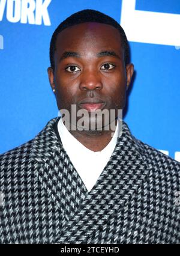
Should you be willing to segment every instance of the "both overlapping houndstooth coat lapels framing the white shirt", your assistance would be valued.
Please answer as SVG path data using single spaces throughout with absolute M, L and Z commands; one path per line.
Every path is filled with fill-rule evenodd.
M 136 193 L 149 170 L 138 142 L 123 122 L 122 135 L 115 150 L 88 193 L 56 137 L 53 130 L 56 120 L 51 120 L 34 139 L 31 157 L 37 162 L 39 180 L 65 216 L 55 242 L 82 243 L 112 222 L 116 212 L 124 210 L 128 199 Z

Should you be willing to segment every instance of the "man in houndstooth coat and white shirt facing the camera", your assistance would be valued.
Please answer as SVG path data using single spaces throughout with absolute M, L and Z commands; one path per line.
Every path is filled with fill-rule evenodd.
M 121 127 L 134 69 L 121 26 L 95 10 L 73 14 L 53 33 L 50 64 L 70 118 L 1 155 L 1 243 L 179 243 L 180 164 Z M 100 123 L 91 116 L 104 110 Z

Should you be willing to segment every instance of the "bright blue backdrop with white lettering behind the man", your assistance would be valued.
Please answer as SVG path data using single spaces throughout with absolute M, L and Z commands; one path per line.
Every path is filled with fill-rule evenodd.
M 85 8 L 112 16 L 130 40 L 136 75 L 124 120 L 131 132 L 180 161 L 179 0 L 0 0 L 0 153 L 57 116 L 47 77 L 50 38 Z

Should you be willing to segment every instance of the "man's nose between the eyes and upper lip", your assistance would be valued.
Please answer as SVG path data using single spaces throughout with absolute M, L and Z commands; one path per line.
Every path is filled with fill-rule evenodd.
M 80 90 L 101 90 L 103 84 L 101 82 L 100 74 L 95 70 L 86 70 L 82 73 L 80 81 Z

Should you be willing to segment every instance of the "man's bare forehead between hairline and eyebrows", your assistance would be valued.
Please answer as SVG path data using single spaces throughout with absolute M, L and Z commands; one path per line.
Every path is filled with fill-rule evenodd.
M 56 51 L 64 50 L 106 50 L 122 51 L 121 35 L 111 25 L 98 22 L 85 22 L 65 28 L 58 34 Z

